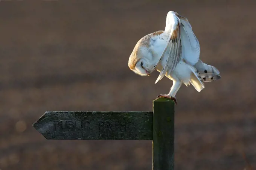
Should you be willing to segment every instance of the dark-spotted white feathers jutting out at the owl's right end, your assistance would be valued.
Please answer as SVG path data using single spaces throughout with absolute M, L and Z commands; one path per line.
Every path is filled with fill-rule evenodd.
M 219 70 L 212 65 L 208 65 L 199 60 L 194 67 L 198 70 L 203 82 L 212 82 L 221 78 Z

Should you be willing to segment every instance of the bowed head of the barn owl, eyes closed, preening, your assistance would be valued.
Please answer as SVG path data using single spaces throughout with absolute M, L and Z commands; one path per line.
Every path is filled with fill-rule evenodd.
M 150 76 L 152 70 L 152 54 L 147 47 L 140 46 L 134 48 L 130 55 L 128 66 L 136 74 L 140 76 Z

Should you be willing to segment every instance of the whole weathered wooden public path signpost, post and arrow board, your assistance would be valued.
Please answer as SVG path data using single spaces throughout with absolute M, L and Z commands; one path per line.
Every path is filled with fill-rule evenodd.
M 153 112 L 48 111 L 33 126 L 52 140 L 152 140 L 153 170 L 174 170 L 174 102 Z

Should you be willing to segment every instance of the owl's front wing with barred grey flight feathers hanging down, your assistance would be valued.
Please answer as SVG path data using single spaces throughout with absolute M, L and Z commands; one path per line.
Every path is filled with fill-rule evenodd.
M 162 61 L 163 56 L 165 55 L 165 52 L 168 47 L 170 47 L 170 50 L 168 53 L 168 58 L 164 62 L 164 67 L 161 70 L 155 83 L 157 83 L 165 76 L 167 70 L 174 70 L 174 68 L 181 59 L 181 21 L 176 14 L 177 13 L 170 11 L 168 12 L 166 17 L 165 33 L 169 34 L 169 38 L 167 40 L 167 44 L 162 52 L 162 55 L 160 56 L 158 63 Z

